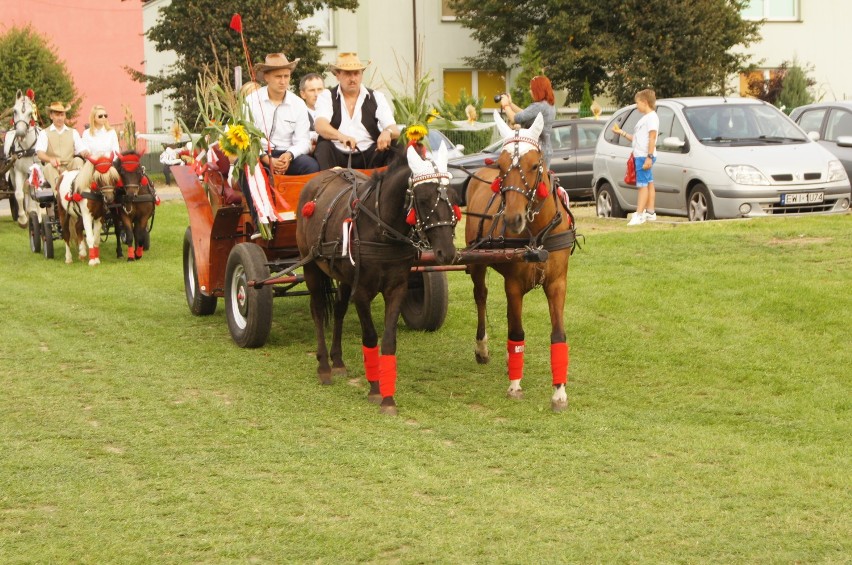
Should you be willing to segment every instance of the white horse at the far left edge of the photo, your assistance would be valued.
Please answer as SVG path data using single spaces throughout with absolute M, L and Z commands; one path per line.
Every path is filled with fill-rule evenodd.
M 35 105 L 30 98 L 21 93 L 15 94 L 14 111 L 15 128 L 6 132 L 3 152 L 15 164 L 9 171 L 12 186 L 15 188 L 15 200 L 18 204 L 18 225 L 27 227 L 27 214 L 32 210 L 38 211 L 36 204 L 30 202 L 24 190 L 27 174 L 35 163 L 35 142 L 38 139 L 39 128 L 35 121 Z

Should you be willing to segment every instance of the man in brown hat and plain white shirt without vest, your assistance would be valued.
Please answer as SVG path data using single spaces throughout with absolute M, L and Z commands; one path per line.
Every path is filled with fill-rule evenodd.
M 266 86 L 246 97 L 254 124 L 264 133 L 260 161 L 277 175 L 307 175 L 319 170 L 311 157 L 310 119 L 304 100 L 290 92 L 290 76 L 299 59 L 283 53 L 266 56 L 255 73 Z

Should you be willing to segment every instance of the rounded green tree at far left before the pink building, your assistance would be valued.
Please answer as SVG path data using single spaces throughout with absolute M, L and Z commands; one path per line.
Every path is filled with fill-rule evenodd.
M 71 105 L 69 119 L 77 115 L 82 99 L 65 63 L 50 42 L 30 26 L 13 27 L 0 36 L 0 108 L 11 108 L 15 93 L 33 89 L 38 107 L 61 101 Z M 39 112 L 42 126 L 50 123 Z

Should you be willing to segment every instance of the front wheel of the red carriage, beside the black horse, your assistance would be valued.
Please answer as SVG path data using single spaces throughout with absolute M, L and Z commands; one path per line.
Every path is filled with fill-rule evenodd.
M 240 243 L 228 256 L 225 269 L 225 314 L 228 330 L 240 347 L 260 347 L 272 329 L 272 286 L 248 286 L 249 280 L 265 279 L 269 265 L 263 249 L 254 243 Z

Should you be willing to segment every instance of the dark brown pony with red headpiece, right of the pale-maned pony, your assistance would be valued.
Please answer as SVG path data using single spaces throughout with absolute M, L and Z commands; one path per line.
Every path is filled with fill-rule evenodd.
M 148 222 L 154 217 L 155 204 L 159 203 L 151 179 L 140 163 L 141 158 L 134 151 L 125 151 L 116 161 L 119 186 L 122 189 L 122 195 L 116 201 L 119 203 L 118 212 L 126 238 L 128 261 L 142 259 L 147 245 Z M 120 242 L 120 238 L 116 239 Z

